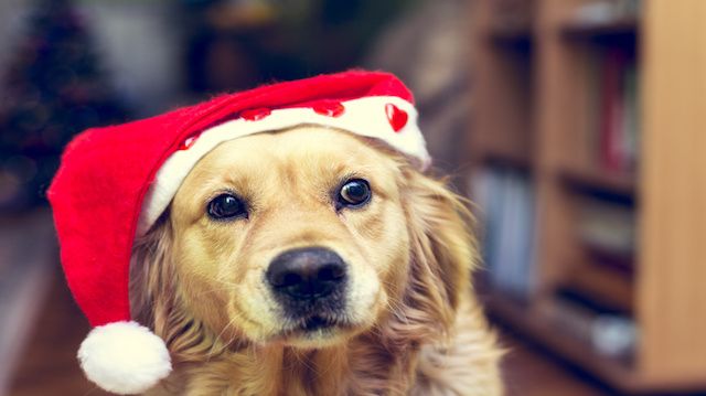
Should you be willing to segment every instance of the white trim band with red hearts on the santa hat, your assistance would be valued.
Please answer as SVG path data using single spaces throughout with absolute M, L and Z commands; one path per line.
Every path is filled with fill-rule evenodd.
M 407 114 L 405 126 L 395 131 L 391 127 L 385 108 L 388 104 Z M 145 235 L 164 212 L 176 194 L 189 171 L 196 162 L 224 141 L 265 131 L 280 130 L 297 125 L 321 125 L 379 139 L 426 169 L 431 160 L 426 142 L 417 126 L 417 110 L 409 101 L 397 96 L 367 96 L 341 101 L 343 114 L 338 117 L 321 115 L 309 107 L 275 109 L 263 119 L 237 118 L 205 130 L 185 150 L 171 154 L 157 172 L 142 203 L 137 236 Z

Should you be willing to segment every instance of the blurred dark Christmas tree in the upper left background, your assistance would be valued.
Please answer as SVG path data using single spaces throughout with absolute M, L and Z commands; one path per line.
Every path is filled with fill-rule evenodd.
M 39 0 L 0 82 L 0 210 L 44 202 L 64 146 L 126 119 L 69 0 Z

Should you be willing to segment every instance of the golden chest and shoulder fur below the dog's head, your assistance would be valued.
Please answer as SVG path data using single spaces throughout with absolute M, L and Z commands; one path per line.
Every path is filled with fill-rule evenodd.
M 494 336 L 466 310 L 443 347 L 385 345 L 373 333 L 336 347 L 248 346 L 182 365 L 148 396 L 500 395 Z

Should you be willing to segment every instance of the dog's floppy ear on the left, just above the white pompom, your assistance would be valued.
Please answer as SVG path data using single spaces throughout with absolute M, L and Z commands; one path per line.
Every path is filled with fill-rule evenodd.
M 136 240 L 130 259 L 130 310 L 132 319 L 164 340 L 174 363 L 200 362 L 221 353 L 223 345 L 183 308 L 175 287 L 173 240 L 169 210 Z

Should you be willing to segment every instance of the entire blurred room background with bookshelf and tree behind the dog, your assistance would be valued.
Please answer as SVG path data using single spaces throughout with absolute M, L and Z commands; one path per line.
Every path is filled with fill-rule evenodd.
M 477 203 L 509 395 L 706 395 L 706 1 L 0 0 L 0 395 L 101 395 L 44 192 L 82 130 L 351 67 Z

